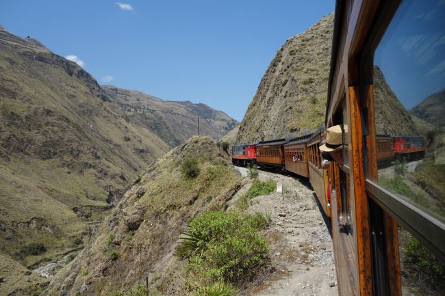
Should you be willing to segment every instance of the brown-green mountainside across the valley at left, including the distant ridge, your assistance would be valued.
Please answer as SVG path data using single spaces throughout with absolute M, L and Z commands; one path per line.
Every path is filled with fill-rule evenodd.
M 79 250 L 131 181 L 196 133 L 196 116 L 213 137 L 236 124 L 207 105 L 149 98 L 102 88 L 0 27 L 0 255 L 25 268 Z

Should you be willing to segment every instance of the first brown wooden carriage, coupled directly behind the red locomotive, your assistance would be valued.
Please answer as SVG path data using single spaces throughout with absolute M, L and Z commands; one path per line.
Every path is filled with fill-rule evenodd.
M 259 142 L 257 147 L 257 163 L 268 169 L 284 170 L 284 148 L 286 139 L 275 139 Z

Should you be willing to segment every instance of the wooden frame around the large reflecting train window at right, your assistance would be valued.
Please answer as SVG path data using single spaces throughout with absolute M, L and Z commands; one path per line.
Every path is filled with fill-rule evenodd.
M 370 27 L 370 33 L 359 56 L 360 88 L 362 113 L 368 118 L 364 120 L 364 168 L 366 173 L 365 189 L 374 202 L 396 219 L 416 239 L 429 248 L 437 258 L 445 262 L 445 224 L 429 213 L 402 200 L 396 194 L 383 189 L 377 184 L 377 140 L 374 125 L 374 96 L 372 90 L 372 66 L 374 51 L 379 46 L 387 27 L 390 25 L 401 1 L 381 1 L 377 14 Z

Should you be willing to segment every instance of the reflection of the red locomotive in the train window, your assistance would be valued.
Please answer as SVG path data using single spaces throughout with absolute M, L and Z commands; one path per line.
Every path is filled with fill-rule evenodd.
M 397 159 L 414 161 L 425 156 L 423 137 L 418 135 L 394 136 L 394 153 Z

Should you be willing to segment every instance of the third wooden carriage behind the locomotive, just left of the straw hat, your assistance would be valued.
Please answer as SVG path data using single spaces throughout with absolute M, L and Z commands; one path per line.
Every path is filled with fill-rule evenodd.
M 331 217 L 331 198 L 328 194 L 328 171 L 322 168 L 320 145 L 323 130 L 320 129 L 307 139 L 307 167 L 309 181 L 320 204 L 328 217 Z

